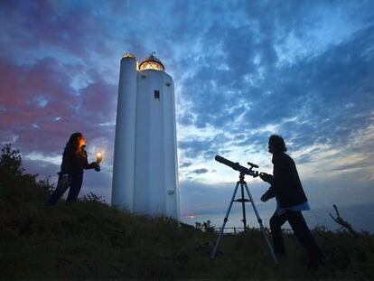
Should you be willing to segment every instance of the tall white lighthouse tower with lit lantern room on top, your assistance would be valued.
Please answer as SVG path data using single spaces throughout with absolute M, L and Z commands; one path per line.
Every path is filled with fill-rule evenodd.
M 119 74 L 112 205 L 180 220 L 173 78 L 151 54 Z

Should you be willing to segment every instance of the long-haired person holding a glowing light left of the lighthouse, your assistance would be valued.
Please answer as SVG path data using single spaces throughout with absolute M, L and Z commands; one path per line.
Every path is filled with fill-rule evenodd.
M 49 204 L 56 204 L 69 187 L 70 190 L 66 201 L 77 201 L 83 183 L 83 169 L 100 171 L 99 162 L 89 164 L 87 152 L 84 150 L 85 147 L 86 140 L 81 133 L 74 133 L 70 136 L 62 155 L 59 182 L 56 190 L 51 193 L 48 200 Z

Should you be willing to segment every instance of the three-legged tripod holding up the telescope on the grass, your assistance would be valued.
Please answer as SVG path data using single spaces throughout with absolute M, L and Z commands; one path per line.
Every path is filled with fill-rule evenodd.
M 225 216 L 225 219 L 223 220 L 223 224 L 222 224 L 222 227 L 220 228 L 220 235 L 219 235 L 219 238 L 217 239 L 217 242 L 216 242 L 216 245 L 214 246 L 214 249 L 213 249 L 213 252 L 211 253 L 211 259 L 215 258 L 216 256 L 216 252 L 217 252 L 217 248 L 218 246 L 220 245 L 220 239 L 222 238 L 223 236 L 223 231 L 225 230 L 225 226 L 226 226 L 226 222 L 228 222 L 229 220 L 229 212 L 231 211 L 231 207 L 232 207 L 232 204 L 234 203 L 234 201 L 237 201 L 237 202 L 241 202 L 241 208 L 242 208 L 242 211 L 243 211 L 243 224 L 244 224 L 244 230 L 246 231 L 247 230 L 247 220 L 246 220 L 246 205 L 245 203 L 250 201 L 251 204 L 252 204 L 252 208 L 253 208 L 253 211 L 255 211 L 255 214 L 256 214 L 256 217 L 257 217 L 257 221 L 258 221 L 258 224 L 260 226 L 260 230 L 262 232 L 262 234 L 264 235 L 264 239 L 266 241 L 266 244 L 267 244 L 267 247 L 269 248 L 270 250 L 270 254 L 271 256 L 273 257 L 274 259 L 274 262 L 276 264 L 278 264 L 278 261 L 276 259 L 276 254 L 274 253 L 274 249 L 273 249 L 273 246 L 270 244 L 270 240 L 268 239 L 267 237 L 267 234 L 266 234 L 266 229 L 264 228 L 263 224 L 262 224 L 262 220 L 258 214 L 258 211 L 257 211 L 257 208 L 256 208 L 256 205 L 255 205 L 255 202 L 253 201 L 253 198 L 252 198 L 252 195 L 250 194 L 249 192 L 249 189 L 248 189 L 248 185 L 247 183 L 244 181 L 244 176 L 245 176 L 245 173 L 240 173 L 239 174 L 239 181 L 237 183 L 237 185 L 235 186 L 235 190 L 234 190 L 234 193 L 232 194 L 232 198 L 231 198 L 231 201 L 229 202 L 229 209 L 228 211 L 226 212 L 226 216 Z M 241 198 L 240 199 L 237 199 L 235 200 L 235 196 L 237 195 L 237 192 L 238 192 L 238 186 L 240 185 L 240 190 L 241 190 Z M 246 199 L 244 197 L 244 189 L 247 191 L 248 193 L 248 198 L 249 199 Z

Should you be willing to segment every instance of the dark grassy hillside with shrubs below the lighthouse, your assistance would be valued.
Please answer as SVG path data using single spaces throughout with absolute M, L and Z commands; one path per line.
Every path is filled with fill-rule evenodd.
M 287 258 L 274 265 L 261 233 L 217 236 L 168 218 L 117 211 L 94 194 L 77 203 L 45 205 L 53 185 L 25 173 L 18 151 L 0 158 L 0 276 L 9 278 L 276 278 L 373 279 L 374 238 L 369 233 L 313 234 L 327 267 L 308 270 L 304 249 L 285 234 Z

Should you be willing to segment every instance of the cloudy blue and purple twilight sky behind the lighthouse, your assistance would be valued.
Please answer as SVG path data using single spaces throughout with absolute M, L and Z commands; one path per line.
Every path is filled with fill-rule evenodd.
M 0 142 L 56 182 L 69 136 L 81 194 L 110 202 L 119 63 L 155 52 L 175 84 L 182 214 L 225 211 L 284 136 L 312 208 L 374 203 L 373 1 L 0 1 Z M 247 178 L 258 204 L 268 186 Z M 274 208 L 274 202 L 267 204 Z

